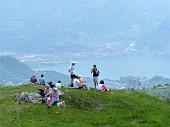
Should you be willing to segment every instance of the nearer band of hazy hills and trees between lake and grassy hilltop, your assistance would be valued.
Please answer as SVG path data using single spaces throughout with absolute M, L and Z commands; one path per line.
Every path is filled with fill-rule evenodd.
M 68 84 L 70 81 L 69 76 L 55 71 L 34 71 L 29 66 L 18 61 L 12 56 L 0 56 L 0 84 L 18 84 L 27 83 L 29 78 L 33 75 L 37 75 L 37 78 L 41 74 L 45 75 L 46 81 L 53 81 L 54 83 L 61 80 L 64 84 Z M 87 85 L 92 86 L 92 79 L 86 77 Z M 104 79 L 105 83 L 113 88 L 119 89 L 121 87 L 133 88 L 134 85 L 142 88 L 151 88 L 158 84 L 170 83 L 169 78 L 161 76 L 155 76 L 153 78 L 141 77 L 141 76 L 127 76 L 121 77 L 119 80 Z M 140 84 L 139 84 L 140 83 Z

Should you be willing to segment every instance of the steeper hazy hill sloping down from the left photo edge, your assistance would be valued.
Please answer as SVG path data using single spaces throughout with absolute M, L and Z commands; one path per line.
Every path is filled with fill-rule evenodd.
M 25 82 L 35 71 L 12 56 L 0 56 L 0 83 Z

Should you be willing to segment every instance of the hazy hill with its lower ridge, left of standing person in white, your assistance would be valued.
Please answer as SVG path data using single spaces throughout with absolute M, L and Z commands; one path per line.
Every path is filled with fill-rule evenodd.
M 62 73 L 55 71 L 36 72 L 12 56 L 0 56 L 0 84 L 27 83 L 33 74 L 37 75 L 37 78 L 44 74 L 46 81 L 55 83 L 57 80 L 61 80 L 66 84 L 69 83 L 69 76 Z

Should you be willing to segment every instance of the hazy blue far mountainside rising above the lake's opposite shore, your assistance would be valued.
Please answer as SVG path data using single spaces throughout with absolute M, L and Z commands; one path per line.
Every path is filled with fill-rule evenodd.
M 168 5 L 167 0 L 1 1 L 0 49 L 170 54 Z M 131 43 L 135 50 L 128 50 Z

